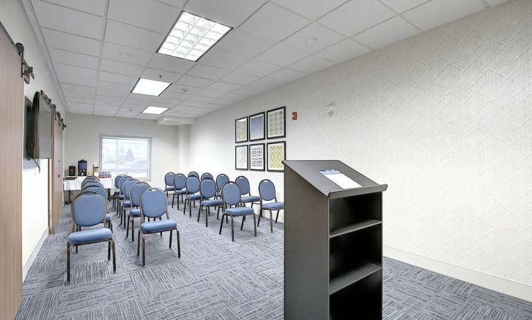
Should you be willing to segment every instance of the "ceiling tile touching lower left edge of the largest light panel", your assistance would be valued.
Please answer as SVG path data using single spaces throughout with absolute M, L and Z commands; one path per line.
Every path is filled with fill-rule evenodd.
M 155 33 L 113 20 L 108 20 L 107 28 L 105 28 L 105 42 L 130 46 L 150 52 L 157 51 L 164 36 L 161 33 Z

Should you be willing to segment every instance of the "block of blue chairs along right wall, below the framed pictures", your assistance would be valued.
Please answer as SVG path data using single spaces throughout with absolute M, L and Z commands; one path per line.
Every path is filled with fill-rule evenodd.
M 259 196 L 251 195 L 249 180 L 244 176 L 239 176 L 235 181 L 230 181 L 228 175 L 225 174 L 218 175 L 216 180 L 214 180 L 212 174 L 209 172 L 205 172 L 201 176 L 196 171 L 189 172 L 188 176 L 181 173 L 175 174 L 168 172 L 164 176 L 164 181 L 167 197 L 172 194 L 172 207 L 177 197 L 179 209 L 179 197 L 181 196 L 181 201 L 185 204 L 183 214 L 186 213 L 188 204 L 189 216 L 192 217 L 192 206 L 196 206 L 196 200 L 200 202 L 198 222 L 200 221 L 202 211 L 205 211 L 205 226 L 208 226 L 209 223 L 208 216 L 210 214 L 210 208 L 218 208 L 216 219 L 219 219 L 221 208 L 223 215 L 220 233 L 223 226 L 223 217 L 225 217 L 226 222 L 228 217 L 231 217 L 232 240 L 234 240 L 234 217 L 242 217 L 242 230 L 246 216 L 253 215 L 256 236 L 256 228 L 260 225 L 263 211 L 269 211 L 270 213 L 270 231 L 273 232 L 273 211 L 277 211 L 275 217 L 275 223 L 277 223 L 279 212 L 284 210 L 284 203 L 277 202 L 275 185 L 268 179 L 260 181 Z M 246 204 L 250 204 L 250 207 L 247 207 Z M 254 205 L 260 206 L 258 223 L 255 223 Z

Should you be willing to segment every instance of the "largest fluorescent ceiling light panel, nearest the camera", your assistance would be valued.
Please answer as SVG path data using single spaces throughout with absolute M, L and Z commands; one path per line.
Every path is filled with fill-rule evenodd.
M 196 62 L 231 29 L 182 11 L 157 53 Z

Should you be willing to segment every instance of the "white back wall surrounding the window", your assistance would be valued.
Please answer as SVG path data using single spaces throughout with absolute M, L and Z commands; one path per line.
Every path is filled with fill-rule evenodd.
M 151 180 L 148 184 L 164 189 L 164 175 L 180 166 L 178 127 L 157 125 L 155 121 L 105 116 L 70 114 L 66 129 L 65 166 L 78 166 L 87 160 L 87 168 L 100 163 L 100 135 L 151 137 Z

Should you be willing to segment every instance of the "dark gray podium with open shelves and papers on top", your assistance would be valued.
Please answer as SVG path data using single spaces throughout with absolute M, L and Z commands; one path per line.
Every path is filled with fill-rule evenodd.
M 382 319 L 382 193 L 336 160 L 284 161 L 284 319 Z

